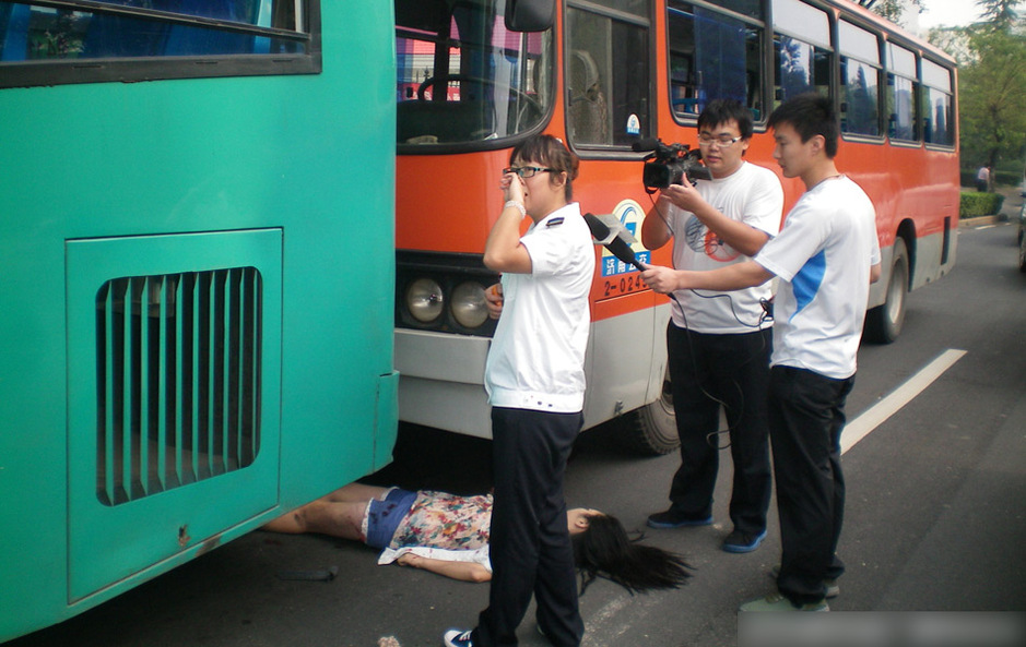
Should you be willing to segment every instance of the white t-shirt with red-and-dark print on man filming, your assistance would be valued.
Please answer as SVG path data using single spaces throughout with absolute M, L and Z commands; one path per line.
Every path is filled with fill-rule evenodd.
M 744 161 L 728 177 L 700 180 L 695 188 L 728 218 L 765 231 L 770 238 L 779 231 L 783 189 L 768 168 Z M 692 212 L 670 205 L 669 221 L 673 233 L 673 266 L 677 269 L 716 269 L 748 260 L 720 240 Z M 773 325 L 769 321 L 759 325 L 763 315 L 759 301 L 771 296 L 769 283 L 732 292 L 699 290 L 698 295 L 692 290 L 674 292 L 676 300 L 671 301 L 670 308 L 673 323 L 679 327 L 698 333 L 734 334 L 751 333 L 756 325 L 760 328 Z M 714 295 L 720 296 L 703 298 Z

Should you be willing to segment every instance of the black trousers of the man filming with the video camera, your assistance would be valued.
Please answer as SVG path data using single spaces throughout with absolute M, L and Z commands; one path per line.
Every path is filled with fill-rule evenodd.
M 711 335 L 671 322 L 667 350 L 681 439 L 681 467 L 673 475 L 670 502 L 688 517 L 712 514 L 719 441 L 710 434 L 718 431 L 720 408 L 726 407 L 734 463 L 730 520 L 742 532 L 762 532 L 773 488 L 766 423 L 773 331 Z

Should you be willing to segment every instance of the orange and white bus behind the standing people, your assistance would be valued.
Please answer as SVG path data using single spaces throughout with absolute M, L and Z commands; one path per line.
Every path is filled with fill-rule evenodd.
M 705 103 L 752 110 L 747 159 L 779 172 L 766 131 L 815 91 L 841 116 L 839 168 L 872 197 L 884 276 L 868 334 L 893 340 L 906 293 L 955 262 L 954 61 L 847 0 L 396 0 L 400 418 L 490 435 L 482 380 L 494 322 L 482 264 L 510 148 L 547 132 L 581 158 L 575 200 L 639 232 L 652 196 L 639 140 L 697 144 Z M 783 180 L 787 208 L 798 180 Z M 670 264 L 669 247 L 634 250 Z M 669 305 L 597 248 L 585 427 L 620 418 L 642 448 L 676 445 L 665 384 Z M 538 331 L 544 335 L 545 331 Z

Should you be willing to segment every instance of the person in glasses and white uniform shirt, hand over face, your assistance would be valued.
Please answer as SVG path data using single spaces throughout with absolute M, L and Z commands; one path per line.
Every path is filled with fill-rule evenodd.
M 574 551 L 563 475 L 583 422 L 588 295 L 595 252 L 573 199 L 578 160 L 551 135 L 514 148 L 499 180 L 505 204 L 484 264 L 503 275 L 487 290 L 498 319 L 485 367 L 492 405 L 495 507 L 488 607 L 448 647 L 517 644 L 532 596 L 538 626 L 561 647 L 580 645 Z M 520 221 L 531 218 L 520 236 Z

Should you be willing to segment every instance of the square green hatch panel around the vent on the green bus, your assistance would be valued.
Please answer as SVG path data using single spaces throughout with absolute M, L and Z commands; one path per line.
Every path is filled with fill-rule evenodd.
M 281 440 L 279 404 L 282 393 L 282 230 L 74 240 L 69 241 L 66 249 L 68 383 L 76 386 L 69 390 L 68 394 L 68 589 L 69 599 L 74 601 L 174 555 L 188 546 L 193 537 L 217 537 L 226 511 L 232 511 L 239 518 L 249 518 L 278 505 Z M 185 290 L 181 289 L 172 292 L 174 297 L 157 299 L 158 305 L 148 309 L 152 311 L 145 313 L 132 312 L 131 307 L 126 308 L 125 299 L 107 298 L 105 301 L 114 307 L 102 311 L 101 316 L 110 323 L 104 321 L 99 324 L 101 330 L 109 332 L 103 335 L 106 352 L 98 354 L 97 286 L 123 276 L 177 277 L 196 267 L 215 273 L 220 271 L 220 276 L 213 277 L 214 285 L 231 280 L 229 268 L 252 267 L 256 271 L 253 276 L 260 277 L 260 289 L 251 290 L 248 299 L 243 297 L 238 301 L 252 302 L 256 300 L 252 293 L 259 291 L 260 303 L 255 308 L 262 312 L 259 317 L 261 331 L 258 350 L 261 358 L 260 397 L 239 397 L 238 384 L 235 388 L 223 387 L 232 382 L 231 378 L 220 381 L 222 399 L 239 397 L 249 400 L 252 409 L 261 409 L 259 429 L 251 429 L 249 433 L 204 433 L 205 443 L 196 443 L 191 433 L 181 432 L 182 428 L 189 431 L 202 426 L 168 424 L 166 416 L 160 414 L 166 407 L 173 407 L 176 412 L 188 408 L 190 411 L 196 410 L 196 417 L 208 418 L 208 428 L 216 427 L 208 412 L 213 409 L 216 414 L 229 410 L 229 407 L 219 407 L 219 403 L 209 400 L 205 407 L 186 407 L 180 402 L 184 398 L 178 395 L 188 391 L 217 391 L 210 385 L 216 385 L 217 378 L 223 378 L 226 371 L 231 375 L 231 367 L 222 364 L 219 369 L 214 362 L 210 362 L 205 371 L 192 371 L 190 378 L 186 379 L 181 375 L 182 368 L 188 366 L 191 358 L 177 357 L 158 348 L 137 355 L 141 360 L 138 363 L 146 364 L 142 370 L 127 362 L 120 367 L 120 371 L 103 371 L 105 384 L 97 383 L 101 380 L 97 356 L 103 355 L 113 360 L 118 350 L 123 350 L 122 356 L 131 356 L 131 349 L 121 347 L 131 344 L 132 339 L 128 335 L 118 334 L 116 328 L 141 326 L 142 321 L 148 326 L 151 321 L 164 326 L 166 322 L 176 319 L 186 319 L 192 324 L 191 320 L 199 319 L 194 313 L 200 311 L 196 308 L 192 309 L 193 316 L 175 316 L 176 311 L 182 310 L 180 302 Z M 236 274 L 241 278 L 240 272 Z M 166 290 L 166 284 L 173 281 L 135 283 L 140 285 L 134 291 L 142 293 L 154 287 Z M 179 286 L 181 283 L 185 281 L 179 281 Z M 126 286 L 126 292 L 131 293 L 129 283 L 122 281 L 122 285 Z M 201 285 L 201 281 L 192 285 Z M 191 291 L 199 290 L 193 287 Z M 208 301 L 212 291 L 207 292 Z M 241 290 L 238 293 L 245 295 Z M 211 319 L 222 317 L 210 317 L 208 322 Z M 180 337 L 181 334 L 173 336 Z M 146 336 L 140 337 L 135 343 L 149 342 Z M 165 352 L 156 352 L 158 350 Z M 190 350 L 192 356 L 201 351 L 200 348 Z M 151 362 L 145 358 L 154 359 Z M 110 366 L 116 362 L 104 363 Z M 162 370 L 160 367 L 173 370 Z M 126 371 L 132 370 L 139 370 L 138 388 L 144 394 L 134 398 L 135 402 L 157 406 L 132 411 L 130 406 L 116 406 L 126 399 L 123 396 L 96 397 L 95 394 L 102 390 L 104 393 L 117 391 L 108 385 L 117 382 L 118 378 L 123 378 L 122 383 L 132 383 L 131 376 L 125 375 Z M 250 368 L 248 372 L 255 371 Z M 210 379 L 211 373 L 213 379 Z M 168 381 L 172 384 L 167 384 Z M 189 384 L 182 385 L 182 382 Z M 245 381 L 236 379 L 235 382 Z M 200 385 L 200 388 L 190 390 L 193 384 Z M 168 396 L 168 393 L 173 395 Z M 104 403 L 103 406 L 98 399 Z M 259 407 L 256 400 L 259 400 Z M 155 422 L 162 424 L 156 426 L 156 433 L 152 435 L 144 434 L 133 440 L 129 434 L 128 441 L 121 442 L 125 440 L 123 430 L 130 427 L 125 418 L 130 419 L 132 416 L 155 418 Z M 104 438 L 97 448 L 96 430 L 101 418 L 105 429 L 117 431 Z M 235 422 L 232 427 L 238 426 L 239 422 Z M 120 438 L 113 438 L 115 433 Z M 251 440 L 253 436 L 259 438 L 259 443 Z M 250 439 L 243 441 L 251 445 L 248 451 L 239 450 L 241 439 Z M 229 440 L 231 447 L 225 451 L 225 442 Z M 213 448 L 210 446 L 212 443 L 216 445 Z M 197 446 L 200 444 L 203 446 Z M 252 446 L 255 444 L 258 446 Z M 125 451 L 125 447 L 128 450 Z M 101 453 L 105 456 L 101 457 Z M 134 453 L 134 457 L 126 456 L 126 453 Z M 249 456 L 240 459 L 244 454 Z M 103 465 L 104 469 L 97 469 L 97 465 Z M 133 471 L 137 472 L 134 478 Z M 143 472 L 145 478 L 140 476 Z M 229 484 L 229 480 L 237 482 Z M 99 492 L 103 494 L 98 496 Z M 217 504 L 209 505 L 210 501 L 216 501 Z M 117 537 L 131 550 L 104 550 L 109 537 Z

